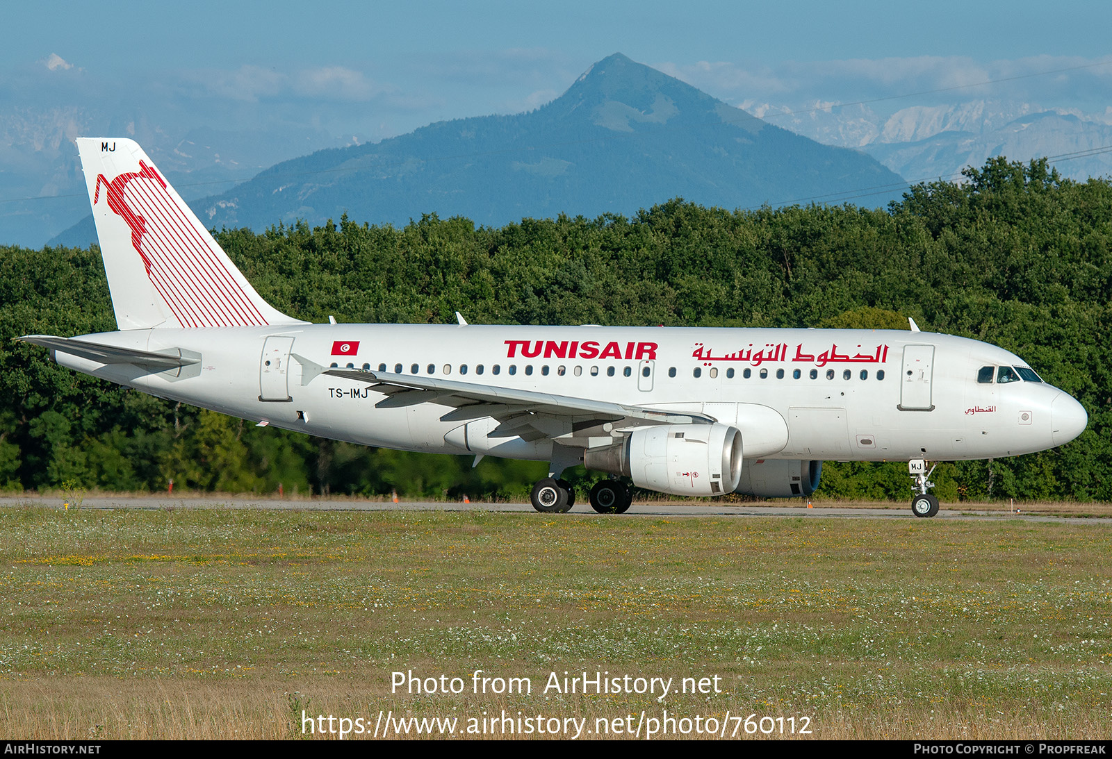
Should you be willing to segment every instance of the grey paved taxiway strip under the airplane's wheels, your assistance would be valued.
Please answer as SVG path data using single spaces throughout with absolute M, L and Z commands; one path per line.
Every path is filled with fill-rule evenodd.
M 48 508 L 62 508 L 62 498 L 59 496 L 8 496 L 0 497 L 0 508 L 11 508 L 20 506 L 43 506 Z M 71 503 L 71 508 L 73 505 Z M 488 503 L 474 501 L 461 503 L 458 501 L 403 501 L 391 503 L 389 501 L 366 501 L 346 499 L 279 499 L 279 498 L 219 498 L 214 496 L 199 496 L 173 498 L 169 496 L 138 496 L 138 497 L 112 497 L 112 496 L 87 496 L 82 502 L 83 509 L 271 509 L 276 511 L 496 511 L 496 512 L 528 512 L 536 513 L 528 503 Z M 570 515 L 597 517 L 590 505 L 576 502 Z M 540 516 L 540 515 L 538 515 Z M 545 515 L 546 517 L 559 517 L 562 515 Z M 802 517 L 804 519 L 821 519 L 825 517 L 847 517 L 867 519 L 915 519 L 911 512 L 911 507 L 905 508 L 883 508 L 883 507 L 816 507 L 808 509 L 800 505 L 798 501 L 791 506 L 781 503 L 773 505 L 725 505 L 714 502 L 689 503 L 649 501 L 646 503 L 635 502 L 624 517 Z M 1112 527 L 1112 519 L 1091 517 L 1055 517 L 1036 513 L 1009 513 L 1007 511 L 982 511 L 970 509 L 947 509 L 943 507 L 935 519 L 1023 519 L 1029 521 L 1054 521 L 1054 522 L 1085 522 L 1091 525 L 1103 525 Z

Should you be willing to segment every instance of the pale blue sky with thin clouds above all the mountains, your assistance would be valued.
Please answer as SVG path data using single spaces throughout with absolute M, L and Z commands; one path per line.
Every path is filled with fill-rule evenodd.
M 6 17 L 20 33 L 0 50 L 0 108 L 82 101 L 220 129 L 299 122 L 380 139 L 542 104 L 613 52 L 734 104 L 1001 79 L 1012 81 L 892 109 L 965 96 L 1112 102 L 1112 66 L 1073 68 L 1112 60 L 1106 2 L 46 1 Z

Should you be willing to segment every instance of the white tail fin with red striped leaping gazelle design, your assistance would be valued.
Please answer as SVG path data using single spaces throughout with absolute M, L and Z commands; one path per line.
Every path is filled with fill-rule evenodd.
M 262 300 L 138 143 L 77 146 L 121 330 L 306 323 Z

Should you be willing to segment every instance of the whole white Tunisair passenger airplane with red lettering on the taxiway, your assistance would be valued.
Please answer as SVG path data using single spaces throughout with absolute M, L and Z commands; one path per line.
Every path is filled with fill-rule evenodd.
M 1061 446 L 1084 408 L 1025 361 L 910 330 L 310 323 L 267 303 L 128 139 L 78 138 L 118 331 L 19 340 L 142 392 L 308 435 L 410 451 L 548 461 L 530 493 L 566 512 L 570 467 L 638 488 L 805 498 L 822 461 L 927 461 Z

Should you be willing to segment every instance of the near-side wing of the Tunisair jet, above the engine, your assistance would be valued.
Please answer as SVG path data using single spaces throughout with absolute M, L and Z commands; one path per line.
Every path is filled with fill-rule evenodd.
M 295 358 L 301 361 L 301 357 L 295 354 Z M 305 363 L 302 361 L 302 366 Z M 466 422 L 492 417 L 500 423 L 490 437 L 526 440 L 550 437 L 564 445 L 576 445 L 580 440 L 586 445 L 586 439 L 604 435 L 599 428 L 606 423 L 610 425 L 609 429 L 622 430 L 647 425 L 711 425 L 715 421 L 701 413 L 645 409 L 495 385 L 359 369 L 320 369 L 322 374 L 371 385 L 387 396 L 377 403 L 379 408 L 436 402 L 455 407 L 440 417 L 441 421 Z

